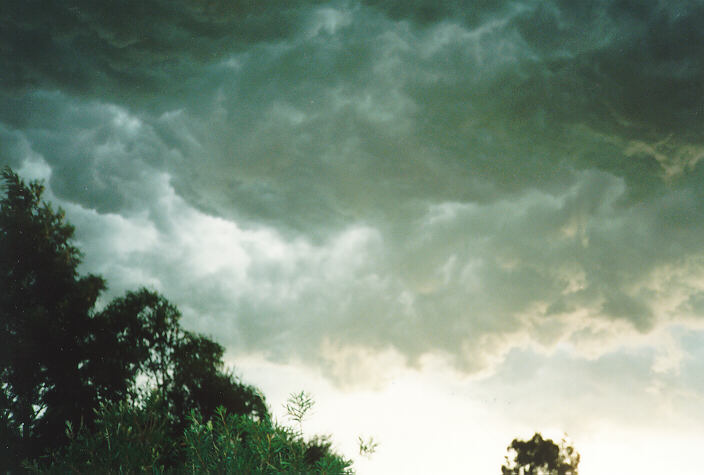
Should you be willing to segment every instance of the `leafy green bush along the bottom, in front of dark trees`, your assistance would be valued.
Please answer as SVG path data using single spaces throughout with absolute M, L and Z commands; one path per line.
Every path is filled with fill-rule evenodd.
M 351 473 L 351 461 L 325 437 L 305 440 L 270 418 L 228 413 L 218 407 L 205 419 L 193 409 L 174 437 L 169 409 L 157 391 L 138 403 L 102 404 L 94 430 L 67 428 L 68 446 L 35 473 Z M 181 451 L 174 463 L 171 454 Z

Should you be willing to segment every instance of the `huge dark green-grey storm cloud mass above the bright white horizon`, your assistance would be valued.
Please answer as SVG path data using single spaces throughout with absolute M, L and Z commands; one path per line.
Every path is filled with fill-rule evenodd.
M 677 320 L 663 288 L 701 314 L 701 269 L 658 280 L 704 252 L 696 5 L 27 5 L 4 7 L 0 159 L 43 157 L 59 199 L 100 213 L 86 242 L 106 216 L 153 225 L 92 265 L 232 345 L 479 370 L 525 338 Z M 246 270 L 198 270 L 178 223 L 203 213 L 296 257 L 232 231 Z

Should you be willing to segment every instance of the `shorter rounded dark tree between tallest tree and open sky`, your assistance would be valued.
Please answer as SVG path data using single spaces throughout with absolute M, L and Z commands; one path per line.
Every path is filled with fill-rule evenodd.
M 218 406 L 230 414 L 267 416 L 263 397 L 224 371 L 224 348 L 183 330 L 178 308 L 159 294 L 146 289 L 128 292 L 108 305 L 100 318 L 125 329 L 111 341 L 114 351 L 129 355 L 123 361 L 129 362 L 130 376 L 135 369 L 145 377 L 145 384 L 159 392 L 179 432 L 186 427 L 191 409 L 206 419 Z

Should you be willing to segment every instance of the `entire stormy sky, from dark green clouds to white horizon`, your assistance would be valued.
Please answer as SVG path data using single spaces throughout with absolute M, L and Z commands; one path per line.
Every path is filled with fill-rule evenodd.
M 535 431 L 699 473 L 704 2 L 10 1 L 0 71 L 103 303 L 161 292 L 359 473 Z

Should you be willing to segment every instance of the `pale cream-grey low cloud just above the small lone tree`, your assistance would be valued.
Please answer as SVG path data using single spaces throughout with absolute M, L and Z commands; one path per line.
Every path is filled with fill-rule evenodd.
M 680 343 L 689 347 L 700 340 L 701 333 L 696 332 Z M 483 381 L 475 396 L 492 401 L 502 414 L 531 427 L 559 425 L 575 433 L 593 430 L 593 424 L 608 420 L 616 426 L 648 431 L 652 421 L 658 420 L 660 429 L 696 433 L 702 422 L 696 408 L 703 393 L 694 375 L 700 355 L 697 350 L 687 353 L 680 370 L 657 373 L 652 367 L 659 351 L 622 347 L 584 360 L 568 351 L 546 356 L 515 349 L 502 369 Z M 530 410 L 526 410 L 526 395 L 530 394 L 540 397 L 529 398 Z M 575 412 L 576 407 L 594 417 L 583 417 L 584 412 Z

